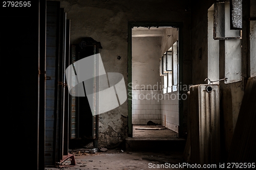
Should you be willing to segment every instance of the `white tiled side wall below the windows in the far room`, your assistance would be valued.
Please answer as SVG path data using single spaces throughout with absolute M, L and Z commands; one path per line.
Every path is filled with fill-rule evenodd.
M 161 100 L 161 124 L 178 132 L 179 127 L 179 98 L 178 92 L 163 94 Z

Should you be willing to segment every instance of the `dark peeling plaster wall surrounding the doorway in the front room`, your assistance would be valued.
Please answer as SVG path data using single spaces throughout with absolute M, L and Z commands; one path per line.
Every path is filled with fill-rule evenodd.
M 71 21 L 71 44 L 92 37 L 102 45 L 101 58 L 106 72 L 119 72 L 127 84 L 128 21 L 183 22 L 184 57 L 190 59 L 190 1 L 60 1 Z M 117 56 L 121 56 L 117 60 Z M 190 70 L 184 69 L 184 77 Z M 189 77 L 189 76 L 188 76 Z M 127 101 L 102 113 L 99 146 L 114 147 L 127 136 Z

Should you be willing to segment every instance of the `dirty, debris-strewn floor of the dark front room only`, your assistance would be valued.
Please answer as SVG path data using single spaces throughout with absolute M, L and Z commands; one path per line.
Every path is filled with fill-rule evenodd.
M 184 163 L 182 152 L 125 152 L 120 149 L 95 152 L 95 150 L 78 149 L 70 153 L 75 155 L 76 165 L 69 166 L 71 162 L 68 159 L 58 168 L 45 169 L 183 169 L 179 165 Z

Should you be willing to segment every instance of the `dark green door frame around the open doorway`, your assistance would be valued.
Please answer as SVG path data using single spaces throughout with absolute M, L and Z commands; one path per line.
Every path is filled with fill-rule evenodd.
M 179 30 L 179 87 L 183 87 L 183 23 L 182 22 L 151 22 L 151 21 L 129 21 L 128 22 L 128 88 L 127 88 L 127 107 L 128 107 L 128 137 L 133 137 L 132 124 L 132 28 L 133 27 L 174 27 Z M 182 88 L 179 88 L 179 95 L 183 94 Z M 179 137 L 183 137 L 183 100 L 179 100 Z

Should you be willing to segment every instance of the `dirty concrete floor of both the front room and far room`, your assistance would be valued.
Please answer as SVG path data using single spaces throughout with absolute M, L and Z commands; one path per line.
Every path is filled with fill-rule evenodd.
M 152 141 L 163 139 L 177 139 L 177 133 L 169 129 L 163 130 L 136 130 L 136 128 L 148 128 L 152 126 L 134 126 L 133 138 L 137 140 Z M 184 163 L 183 151 L 164 151 L 153 150 L 148 147 L 147 151 L 123 151 L 121 149 L 110 149 L 106 152 L 87 153 L 85 149 L 72 150 L 71 154 L 75 155 L 75 166 L 64 166 L 62 169 L 183 169 L 181 165 Z M 70 160 L 62 163 L 69 165 Z M 162 167 L 161 167 L 162 165 Z M 165 165 L 165 167 L 163 167 Z M 157 168 L 159 166 L 160 168 Z M 154 168 L 156 167 L 156 168 Z M 46 170 L 57 170 L 60 168 L 46 167 Z

